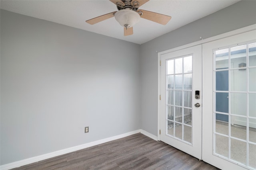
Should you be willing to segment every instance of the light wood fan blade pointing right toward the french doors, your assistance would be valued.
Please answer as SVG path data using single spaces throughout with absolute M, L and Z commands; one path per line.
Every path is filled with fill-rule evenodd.
M 140 16 L 141 18 L 144 18 L 144 19 L 150 20 L 150 21 L 154 21 L 154 22 L 160 23 L 162 25 L 166 25 L 168 23 L 168 21 L 170 21 L 170 19 L 172 18 L 170 16 L 158 14 L 156 12 L 151 12 L 151 11 L 146 11 L 146 10 L 137 10 L 137 12 L 139 12 L 139 11 L 142 12 L 142 15 Z

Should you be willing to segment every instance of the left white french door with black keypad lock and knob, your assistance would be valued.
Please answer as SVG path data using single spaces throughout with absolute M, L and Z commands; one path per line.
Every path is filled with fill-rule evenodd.
M 202 45 L 161 55 L 161 141 L 202 159 Z

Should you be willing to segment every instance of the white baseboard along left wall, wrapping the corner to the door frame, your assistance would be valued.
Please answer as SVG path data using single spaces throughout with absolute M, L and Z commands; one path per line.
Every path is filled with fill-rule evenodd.
M 75 146 L 75 147 L 70 147 L 70 148 L 67 148 L 67 149 L 58 150 L 58 151 L 55 151 L 55 152 L 35 156 L 35 157 L 32 157 L 32 158 L 20 160 L 20 161 L 17 161 L 17 162 L 12 162 L 10 164 L 4 164 L 4 165 L 0 166 L 0 170 L 9 170 L 9 169 L 12 169 L 12 168 L 18 168 L 20 166 L 24 166 L 24 165 L 27 165 L 27 164 L 32 164 L 34 162 L 38 162 L 38 161 L 45 160 L 45 159 L 48 159 L 48 158 L 53 158 L 55 156 L 60 156 L 62 154 L 74 152 L 76 150 L 85 149 L 85 148 L 92 147 L 92 146 L 95 146 L 95 145 L 99 145 L 99 144 L 102 144 L 102 143 L 114 141 L 116 139 L 120 139 L 120 138 L 123 138 L 123 137 L 134 135 L 136 133 L 142 133 L 143 135 L 146 135 L 146 136 L 148 136 L 148 137 L 150 137 L 154 140 L 157 140 L 156 136 L 152 135 L 151 133 L 148 133 L 147 131 L 139 129 L 139 130 L 136 130 L 136 131 L 132 131 L 132 132 L 124 133 L 124 134 L 121 134 L 121 135 L 117 135 L 117 136 L 114 136 L 114 137 L 109 137 L 109 138 L 106 138 L 106 139 L 101 139 L 101 140 L 86 143 L 86 144 L 83 144 L 83 145 L 78 145 L 78 146 Z

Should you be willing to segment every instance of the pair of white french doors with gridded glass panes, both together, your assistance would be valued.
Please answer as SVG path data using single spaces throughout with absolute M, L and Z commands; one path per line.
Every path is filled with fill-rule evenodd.
M 256 30 L 160 59 L 159 139 L 223 170 L 255 170 Z

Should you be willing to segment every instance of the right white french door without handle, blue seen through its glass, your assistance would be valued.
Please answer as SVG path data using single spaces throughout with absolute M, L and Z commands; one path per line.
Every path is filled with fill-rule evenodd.
M 220 169 L 256 169 L 256 31 L 202 47 L 202 159 Z

